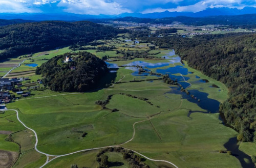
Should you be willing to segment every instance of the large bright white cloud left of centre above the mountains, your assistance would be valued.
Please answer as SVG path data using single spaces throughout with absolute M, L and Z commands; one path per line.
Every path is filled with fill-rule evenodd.
M 120 14 L 131 12 L 115 2 L 106 3 L 103 0 L 61 0 L 59 7 L 64 7 L 63 11 L 76 14 Z

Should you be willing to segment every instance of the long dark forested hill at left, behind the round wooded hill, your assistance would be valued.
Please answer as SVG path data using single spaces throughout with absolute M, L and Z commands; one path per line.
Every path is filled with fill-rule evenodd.
M 43 21 L 0 27 L 0 59 L 71 44 L 109 39 L 123 30 L 89 21 Z

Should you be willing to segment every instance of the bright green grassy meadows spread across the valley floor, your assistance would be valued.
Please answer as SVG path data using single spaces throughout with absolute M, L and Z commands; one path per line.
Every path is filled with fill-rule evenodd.
M 123 40 L 121 37 L 119 39 Z M 105 41 L 105 43 L 116 45 L 119 50 L 124 49 L 122 45 L 125 44 L 116 39 Z M 129 43 L 126 42 L 126 44 Z M 145 47 L 139 47 L 139 45 Z M 148 49 L 146 44 L 136 44 L 136 46 L 132 49 Z M 96 54 L 99 58 L 104 55 L 117 56 L 116 51 L 86 51 Z M 161 53 L 158 53 L 159 51 Z M 151 50 L 149 52 L 158 53 L 155 57 L 160 58 L 170 51 L 172 50 Z M 33 62 L 26 60 L 12 73 L 24 72 L 26 74 L 25 72 L 34 71 L 35 68 L 25 66 L 25 64 L 33 63 L 40 66 L 47 59 L 65 52 L 70 52 L 70 50 L 62 48 L 35 53 L 31 58 Z M 121 66 L 133 61 L 169 62 L 167 59 L 154 61 L 140 58 L 111 63 Z M 186 62 L 184 63 L 184 67 L 189 72 L 193 72 L 183 75 L 189 77 L 187 82 L 192 83 L 188 90 L 205 92 L 208 98 L 219 102 L 227 98 L 228 90 L 225 85 L 189 68 Z M 151 70 L 156 72 L 157 69 L 167 69 L 175 65 L 181 64 L 169 64 Z M 84 149 L 120 145 L 152 159 L 173 162 L 178 167 L 241 167 L 236 157 L 219 153 L 219 150 L 226 150 L 223 145 L 228 142 L 228 139 L 238 134 L 233 129 L 220 124 L 219 114 L 192 113 L 189 116 L 189 110 L 204 112 L 206 110 L 183 98 L 180 94 L 171 93 L 170 87 L 177 88 L 177 86 L 167 85 L 161 79 L 151 81 L 150 79 L 158 79 L 153 75 L 134 76 L 133 72 L 133 70 L 121 67 L 116 73 L 111 74 L 116 76 L 115 82 L 121 83 L 112 82 L 111 87 L 105 87 L 103 80 L 109 78 L 106 76 L 102 80 L 101 89 L 87 93 L 53 92 L 40 85 L 40 89 L 31 90 L 30 97 L 9 103 L 7 107 L 18 110 L 20 120 L 36 131 L 38 150 L 50 155 L 63 155 Z M 209 82 L 197 83 L 196 75 Z M 29 77 L 31 81 L 35 81 L 41 76 L 31 74 Z M 144 81 L 130 82 L 133 80 Z M 219 88 L 209 87 L 211 85 L 217 85 Z M 23 87 L 23 89 L 27 88 Z M 106 100 L 109 95 L 113 96 L 105 108 L 95 104 L 97 100 Z M 139 98 L 146 98 L 147 101 Z M 113 112 L 114 108 L 117 111 Z M 9 110 L 0 114 L 0 124 L 1 130 L 13 132 L 11 134 L 13 141 L 20 145 L 20 157 L 14 167 L 40 167 L 45 163 L 46 156 L 34 150 L 34 134 L 17 121 L 14 111 Z M 8 135 L 0 135 L 0 150 L 19 151 L 17 144 L 5 141 Z M 131 141 L 127 142 L 129 140 Z M 250 148 L 254 149 L 254 146 L 246 143 L 241 145 L 243 151 L 247 152 Z M 72 164 L 77 164 L 78 167 L 98 167 L 99 164 L 95 159 L 98 152 L 99 150 L 91 150 L 57 157 L 45 167 L 70 167 Z M 248 152 L 248 154 L 252 155 L 255 152 Z M 123 163 L 118 167 L 130 167 L 119 153 L 108 152 L 107 155 L 111 162 Z M 54 157 L 50 157 L 52 158 Z M 145 159 L 145 163 L 151 167 L 172 167 L 168 163 L 148 159 Z

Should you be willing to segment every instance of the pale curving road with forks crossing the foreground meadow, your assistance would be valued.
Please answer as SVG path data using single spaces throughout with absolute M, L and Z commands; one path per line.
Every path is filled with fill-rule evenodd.
M 120 145 L 129 143 L 130 141 L 133 140 L 133 138 L 134 138 L 134 136 L 135 136 L 135 132 L 136 132 L 136 130 L 135 130 L 135 124 L 140 123 L 140 122 L 143 122 L 143 121 L 146 121 L 146 120 L 143 120 L 143 121 L 139 121 L 139 122 L 134 123 L 134 124 L 133 124 L 133 130 L 134 130 L 134 132 L 133 132 L 133 137 L 132 137 L 129 141 L 127 141 L 127 142 L 125 142 L 125 143 L 122 143 L 122 144 L 120 144 L 120 145 L 106 146 L 106 147 L 99 147 L 99 148 L 91 148 L 91 149 L 84 149 L 84 150 L 80 150 L 80 151 L 76 151 L 76 152 L 72 152 L 72 153 L 68 153 L 68 154 L 64 154 L 64 155 L 51 155 L 51 154 L 48 154 L 48 153 L 41 152 L 41 151 L 39 151 L 39 150 L 37 149 L 38 137 L 37 137 L 37 134 L 36 134 L 35 130 L 33 130 L 32 128 L 29 128 L 28 126 L 26 126 L 26 125 L 19 119 L 19 117 L 18 117 L 18 111 L 17 111 L 16 109 L 9 109 L 9 110 L 16 111 L 17 120 L 18 120 L 20 123 L 22 123 L 22 125 L 23 125 L 24 127 L 26 127 L 27 129 L 29 129 L 29 130 L 31 130 L 31 131 L 34 132 L 34 134 L 35 134 L 35 139 L 36 139 L 35 146 L 34 146 L 35 150 L 36 150 L 38 153 L 41 153 L 41 154 L 43 154 L 43 155 L 46 155 L 46 157 L 47 157 L 47 160 L 46 160 L 45 164 L 43 164 L 42 166 L 40 166 L 40 168 L 41 168 L 41 167 L 44 167 L 44 166 L 47 165 L 49 162 L 51 162 L 52 160 L 54 160 L 54 159 L 56 159 L 56 158 L 58 158 L 58 157 L 68 156 L 68 155 L 72 155 L 72 154 L 75 154 L 75 153 L 85 152 L 85 151 L 91 151 L 91 150 L 96 150 L 96 149 L 104 149 L 104 148 L 110 148 L 110 147 L 120 147 Z M 149 120 L 149 119 L 147 119 L 147 120 Z M 123 148 L 123 147 L 122 147 L 122 148 Z M 126 150 L 131 150 L 131 149 L 128 149 L 128 148 L 124 148 L 124 149 L 126 149 Z M 174 163 L 169 162 L 169 161 L 167 161 L 167 160 L 151 159 L 151 158 L 148 158 L 148 157 L 142 155 L 142 154 L 139 153 L 139 152 L 136 152 L 136 151 L 134 151 L 134 150 L 131 150 L 131 151 L 137 153 L 138 155 L 141 155 L 142 157 L 145 157 L 145 158 L 148 159 L 148 160 L 166 162 L 166 163 L 172 164 L 173 166 L 175 166 L 176 168 L 178 168 L 178 166 L 176 166 Z M 51 159 L 51 160 L 49 160 L 49 156 L 53 156 L 54 158 Z

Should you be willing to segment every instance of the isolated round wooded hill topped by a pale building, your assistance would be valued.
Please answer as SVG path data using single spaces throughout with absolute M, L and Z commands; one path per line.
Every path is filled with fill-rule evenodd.
M 70 61 L 64 62 L 66 57 Z M 86 92 L 95 88 L 100 78 L 108 72 L 104 61 L 89 52 L 65 53 L 50 59 L 36 68 L 51 90 Z

